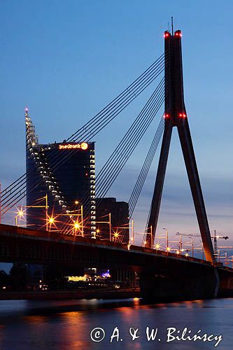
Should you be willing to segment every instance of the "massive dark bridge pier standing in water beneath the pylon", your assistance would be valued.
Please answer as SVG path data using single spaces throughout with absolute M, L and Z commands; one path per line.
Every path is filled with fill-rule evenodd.
M 211 266 L 190 270 L 170 265 L 145 269 L 140 274 L 139 285 L 143 299 L 153 302 L 211 299 L 218 296 L 219 277 Z

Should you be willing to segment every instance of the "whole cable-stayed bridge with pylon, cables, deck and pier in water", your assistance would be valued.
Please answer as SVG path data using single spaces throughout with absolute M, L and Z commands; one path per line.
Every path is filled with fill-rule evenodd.
M 141 290 L 145 297 L 196 298 L 213 297 L 219 293 L 228 295 L 233 292 L 233 269 L 223 267 L 223 265 L 217 263 L 213 251 L 204 197 L 188 125 L 188 114 L 185 109 L 181 36 L 180 30 L 172 31 L 171 33 L 165 31 L 164 53 L 139 78 L 123 90 L 118 97 L 115 97 L 108 106 L 65 140 L 71 144 L 76 141 L 80 143 L 92 141 L 94 136 L 104 130 L 104 127 L 111 123 L 146 87 L 154 83 L 156 79 L 159 80 L 148 102 L 146 102 L 134 123 L 129 127 L 125 136 L 108 158 L 96 179 L 93 180 L 93 188 L 95 189 L 93 189 L 91 197 L 94 212 L 95 205 L 98 208 L 101 198 L 106 196 L 109 188 L 111 188 L 118 174 L 125 167 L 127 160 L 129 160 L 129 157 L 134 152 L 139 141 L 141 141 L 146 130 L 148 130 L 148 127 L 150 127 L 155 116 L 160 113 L 164 104 L 160 123 L 146 159 L 143 162 L 132 195 L 129 197 L 129 218 L 131 218 L 162 138 L 155 188 L 143 237 L 143 248 L 136 247 L 130 242 L 124 245 L 111 239 L 107 243 L 99 241 L 94 227 L 94 214 L 92 230 L 87 232 L 85 237 L 79 237 L 78 235 L 70 237 L 70 218 L 68 216 L 67 221 L 59 227 L 57 235 L 48 232 L 48 230 L 43 232 L 1 225 L 1 261 L 63 263 L 67 266 L 78 264 L 86 267 L 93 264 L 99 267 L 107 266 L 112 268 L 122 266 L 125 269 L 133 269 L 140 272 Z M 33 147 L 37 140 L 28 111 L 25 111 L 25 120 L 27 126 L 27 150 L 34 159 L 40 178 L 30 181 L 30 186 L 28 186 L 32 173 L 30 169 L 27 169 L 25 174 L 2 190 L 1 216 L 4 216 L 15 204 L 34 191 L 41 180 L 47 186 L 48 193 L 56 197 L 57 203 L 61 210 L 64 211 L 64 214 L 69 213 L 69 205 L 66 203 L 59 186 L 54 180 L 54 172 L 62 166 L 66 158 L 71 157 L 75 150 L 71 149 L 62 159 L 58 158 L 57 154 L 51 151 L 50 165 L 48 167 L 46 162 L 43 162 L 43 159 L 38 157 L 38 154 L 34 155 Z M 174 127 L 178 130 L 178 137 L 181 142 L 206 260 L 190 258 L 188 255 L 174 254 L 169 250 L 162 252 L 159 249 L 155 249 L 154 246 L 171 134 Z M 127 148 L 124 148 L 123 153 L 122 144 L 128 145 Z M 96 204 L 95 198 L 99 198 Z M 90 197 L 85 195 L 83 206 L 89 200 Z M 47 204 L 45 207 L 47 207 Z

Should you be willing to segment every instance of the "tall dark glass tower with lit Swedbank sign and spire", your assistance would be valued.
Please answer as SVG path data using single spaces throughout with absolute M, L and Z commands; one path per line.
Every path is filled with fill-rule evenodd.
M 94 142 L 39 144 L 27 109 L 25 123 L 27 224 L 94 237 Z

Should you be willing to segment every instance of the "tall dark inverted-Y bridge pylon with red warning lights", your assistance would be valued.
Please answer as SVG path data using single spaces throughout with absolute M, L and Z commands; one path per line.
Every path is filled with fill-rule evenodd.
M 185 109 L 183 93 L 183 66 L 181 50 L 181 31 L 174 33 L 164 32 L 164 53 L 165 53 L 165 108 L 164 108 L 164 134 L 162 138 L 162 147 L 160 151 L 160 160 L 157 169 L 157 177 L 153 199 L 150 207 L 150 216 L 148 219 L 148 228 L 153 228 L 153 239 L 150 240 L 151 233 L 148 231 L 146 241 L 154 243 L 157 221 L 160 212 L 160 203 L 162 189 L 164 186 L 164 176 L 167 168 L 167 159 L 171 143 L 171 134 L 173 127 L 177 127 L 178 136 L 181 142 L 185 167 L 188 173 L 188 180 L 192 192 L 192 198 L 195 204 L 195 211 L 199 230 L 202 235 L 202 242 L 206 260 L 214 262 L 213 245 L 209 230 L 209 223 L 202 195 L 202 187 L 199 181 L 195 152 L 192 146 L 190 127 Z

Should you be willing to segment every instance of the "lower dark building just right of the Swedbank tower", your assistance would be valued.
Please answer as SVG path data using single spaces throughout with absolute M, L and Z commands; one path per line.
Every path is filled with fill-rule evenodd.
M 129 204 L 97 198 L 97 238 L 129 243 Z M 111 224 L 110 224 L 111 223 Z

